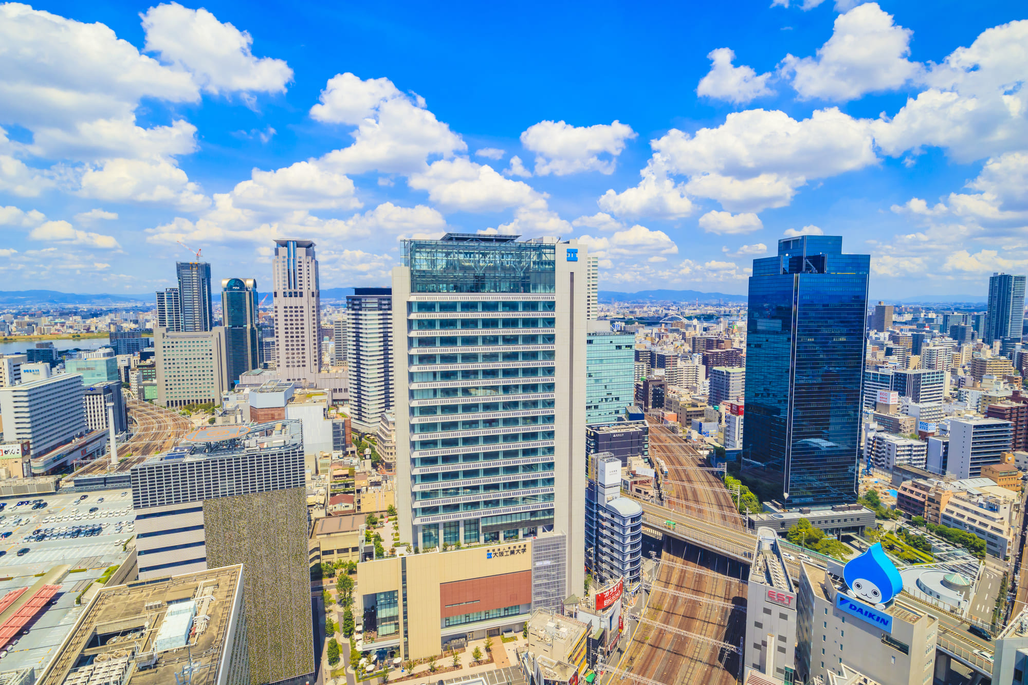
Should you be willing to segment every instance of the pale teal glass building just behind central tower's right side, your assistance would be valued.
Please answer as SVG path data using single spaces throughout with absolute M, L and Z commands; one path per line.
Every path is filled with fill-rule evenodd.
M 585 421 L 609 424 L 634 400 L 635 335 L 597 331 L 585 342 Z

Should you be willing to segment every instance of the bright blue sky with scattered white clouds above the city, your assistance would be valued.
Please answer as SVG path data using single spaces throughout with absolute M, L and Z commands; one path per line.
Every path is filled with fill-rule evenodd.
M 0 289 L 266 287 L 403 238 L 579 238 L 601 288 L 743 293 L 799 231 L 872 295 L 1028 271 L 1023 3 L 0 5 Z

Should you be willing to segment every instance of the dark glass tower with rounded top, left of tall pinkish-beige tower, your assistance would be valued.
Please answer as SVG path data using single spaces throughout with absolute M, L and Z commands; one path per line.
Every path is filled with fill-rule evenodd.
M 264 365 L 255 279 L 221 281 L 221 318 L 225 329 L 225 387 L 230 389 L 241 375 Z

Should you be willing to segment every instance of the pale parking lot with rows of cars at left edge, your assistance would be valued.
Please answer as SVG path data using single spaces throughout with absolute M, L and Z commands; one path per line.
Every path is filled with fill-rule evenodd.
M 33 509 L 32 501 L 40 499 L 45 506 Z M 29 503 L 17 504 L 26 501 Z M 17 642 L 7 646 L 6 654 L 0 652 L 0 671 L 33 666 L 38 674 L 84 608 L 75 604 L 78 596 L 103 575 L 105 569 L 125 561 L 124 543 L 134 535 L 130 526 L 135 518 L 132 493 L 96 491 L 88 493 L 84 500 L 78 493 L 23 495 L 0 498 L 0 503 L 6 505 L 0 510 L 0 516 L 4 517 L 0 521 L 0 535 L 9 533 L 0 538 L 0 551 L 3 552 L 0 555 L 0 597 L 32 585 L 38 580 L 36 574 L 54 566 L 67 564 L 72 569 L 61 583 L 53 603 L 25 626 L 29 633 L 19 635 Z M 94 507 L 97 511 L 90 512 Z M 120 532 L 116 532 L 118 522 L 121 524 Z M 99 532 L 72 537 L 76 527 L 82 527 L 80 530 L 99 528 Z M 52 529 L 49 535 L 37 540 L 46 529 Z M 37 530 L 40 533 L 33 535 Z M 26 536 L 33 537 L 26 541 Z M 19 550 L 25 548 L 29 551 L 19 556 Z

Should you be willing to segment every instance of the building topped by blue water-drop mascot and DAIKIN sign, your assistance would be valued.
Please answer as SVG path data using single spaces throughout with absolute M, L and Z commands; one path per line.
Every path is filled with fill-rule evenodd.
M 893 602 L 903 579 L 881 545 L 845 566 L 800 567 L 797 669 L 804 682 L 829 682 L 846 666 L 881 685 L 932 682 L 939 621 Z

